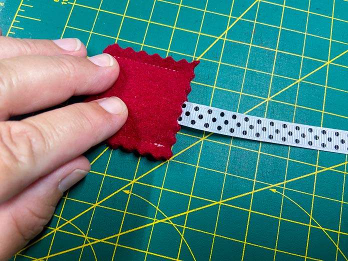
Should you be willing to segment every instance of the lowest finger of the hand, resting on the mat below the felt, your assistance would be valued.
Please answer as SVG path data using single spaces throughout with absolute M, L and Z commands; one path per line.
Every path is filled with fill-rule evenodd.
M 63 192 L 89 169 L 89 161 L 79 156 L 0 204 L 0 260 L 10 258 L 41 232 Z

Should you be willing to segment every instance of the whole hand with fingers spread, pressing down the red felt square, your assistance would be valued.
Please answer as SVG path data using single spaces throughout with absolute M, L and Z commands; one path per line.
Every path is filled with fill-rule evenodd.
M 77 39 L 0 36 L 0 260 L 37 235 L 62 193 L 90 169 L 81 156 L 113 135 L 127 108 L 115 97 L 75 103 L 20 121 L 12 115 L 109 88 L 119 72 L 108 54 L 85 58 Z

